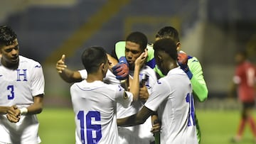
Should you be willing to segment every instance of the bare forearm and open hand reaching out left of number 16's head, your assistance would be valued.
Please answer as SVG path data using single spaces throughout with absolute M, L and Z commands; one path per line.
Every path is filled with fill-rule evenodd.
M 69 70 L 67 68 L 67 65 L 65 65 L 65 55 L 62 55 L 60 60 L 56 63 L 56 70 L 65 82 L 72 83 L 80 82 L 82 80 L 80 72 Z

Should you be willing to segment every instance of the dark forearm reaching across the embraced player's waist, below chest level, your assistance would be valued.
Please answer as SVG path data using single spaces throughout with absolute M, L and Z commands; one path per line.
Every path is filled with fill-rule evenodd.
M 135 126 L 142 124 L 146 121 L 147 118 L 149 118 L 149 116 L 151 116 L 152 113 L 154 113 L 154 111 L 151 111 L 150 109 L 146 108 L 146 106 L 143 106 L 138 113 L 132 116 L 118 118 L 117 126 Z

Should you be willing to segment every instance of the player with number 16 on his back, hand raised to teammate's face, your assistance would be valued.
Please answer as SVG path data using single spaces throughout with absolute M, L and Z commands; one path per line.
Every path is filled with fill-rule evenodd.
M 106 84 L 103 78 L 109 69 L 107 53 L 101 47 L 91 47 L 82 52 L 82 64 L 87 70 L 87 79 L 70 87 L 75 112 L 75 140 L 80 143 L 118 144 L 117 102 L 127 107 L 139 93 L 139 69 L 146 53 L 134 62 L 134 79 L 131 93 L 117 84 Z M 133 89 L 135 88 L 135 89 Z M 137 98 L 135 98 L 137 99 Z

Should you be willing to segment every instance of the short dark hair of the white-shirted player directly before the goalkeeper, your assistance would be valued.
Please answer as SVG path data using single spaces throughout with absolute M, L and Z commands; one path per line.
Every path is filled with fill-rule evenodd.
M 177 60 L 178 52 L 177 45 L 171 38 L 161 38 L 160 40 L 156 40 L 153 45 L 154 51 L 158 52 L 159 50 L 163 50 L 166 52 L 172 59 Z

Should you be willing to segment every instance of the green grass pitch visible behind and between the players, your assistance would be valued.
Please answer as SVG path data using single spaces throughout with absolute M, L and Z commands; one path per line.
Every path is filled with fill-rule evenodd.
M 201 126 L 201 144 L 229 144 L 238 129 L 239 111 L 196 110 Z M 41 144 L 75 144 L 73 109 L 45 108 L 38 114 Z M 252 133 L 247 126 L 240 144 L 252 143 Z

